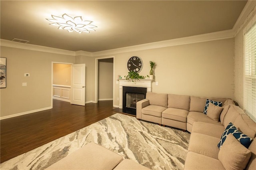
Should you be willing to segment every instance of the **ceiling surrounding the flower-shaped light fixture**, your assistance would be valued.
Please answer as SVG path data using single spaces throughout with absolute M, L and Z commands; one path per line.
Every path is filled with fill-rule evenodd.
M 230 30 L 246 0 L 0 1 L 0 38 L 70 51 L 103 51 Z M 98 26 L 78 34 L 57 30 L 46 18 L 82 16 Z

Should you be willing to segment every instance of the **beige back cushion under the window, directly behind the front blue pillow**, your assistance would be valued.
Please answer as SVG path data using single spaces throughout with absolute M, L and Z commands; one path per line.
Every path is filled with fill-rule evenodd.
M 252 121 L 252 119 L 250 119 L 250 117 L 248 117 L 247 115 L 238 115 L 234 122 L 234 126 L 250 138 L 255 138 L 256 123 Z

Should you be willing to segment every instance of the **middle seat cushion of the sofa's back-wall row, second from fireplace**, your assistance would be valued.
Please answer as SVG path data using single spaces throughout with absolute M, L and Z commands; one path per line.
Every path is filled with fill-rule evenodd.
M 180 122 L 187 122 L 188 111 L 176 108 L 167 108 L 163 111 L 162 117 Z

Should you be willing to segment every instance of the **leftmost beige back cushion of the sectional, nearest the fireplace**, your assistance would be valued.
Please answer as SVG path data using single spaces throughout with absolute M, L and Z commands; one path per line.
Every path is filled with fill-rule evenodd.
M 167 94 L 147 92 L 146 99 L 149 100 L 150 105 L 167 107 Z

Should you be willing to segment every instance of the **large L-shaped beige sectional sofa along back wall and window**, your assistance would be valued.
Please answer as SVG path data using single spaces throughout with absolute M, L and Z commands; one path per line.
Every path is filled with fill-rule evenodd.
M 206 115 L 203 113 L 206 99 L 222 102 L 222 107 L 213 106 L 210 102 Z M 219 109 L 218 119 L 216 115 L 210 115 L 214 109 Z M 256 123 L 231 99 L 148 92 L 146 99 L 137 103 L 136 114 L 137 119 L 191 132 L 184 166 L 186 170 L 256 169 Z M 242 146 L 234 134 L 225 135 L 230 123 L 251 138 L 248 148 Z M 226 140 L 219 148 L 223 138 Z

